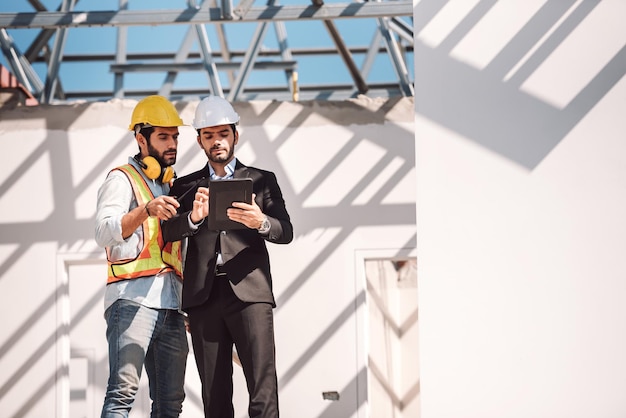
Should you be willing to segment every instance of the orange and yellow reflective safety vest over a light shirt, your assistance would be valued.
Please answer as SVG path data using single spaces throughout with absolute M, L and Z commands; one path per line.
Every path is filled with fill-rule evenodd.
M 137 205 L 141 206 L 154 199 L 154 195 L 146 184 L 146 180 L 137 169 L 130 164 L 115 168 L 128 177 L 133 186 Z M 143 248 L 135 258 L 112 261 L 107 247 L 108 283 L 139 277 L 154 276 L 161 272 L 173 271 L 180 280 L 182 274 L 182 247 L 180 241 L 163 242 L 161 222 L 149 216 L 141 226 L 143 232 Z

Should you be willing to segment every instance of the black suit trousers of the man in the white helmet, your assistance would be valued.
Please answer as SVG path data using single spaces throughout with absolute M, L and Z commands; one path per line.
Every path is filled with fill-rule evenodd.
M 248 414 L 278 417 L 272 306 L 242 302 L 226 276 L 217 276 L 208 301 L 188 314 L 205 417 L 234 416 L 233 344 L 248 386 Z

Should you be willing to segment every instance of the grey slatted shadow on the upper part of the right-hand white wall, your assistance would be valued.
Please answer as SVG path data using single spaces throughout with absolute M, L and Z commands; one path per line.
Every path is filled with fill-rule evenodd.
M 435 3 L 441 2 L 420 2 L 416 16 L 421 10 L 436 14 Z M 569 103 L 559 108 L 519 87 L 600 2 L 546 2 L 485 69 L 476 69 L 451 57 L 450 50 L 496 3 L 479 2 L 435 48 L 416 42 L 416 60 L 429 63 L 418 63 L 415 68 L 416 110 L 419 115 L 532 170 L 624 76 L 626 47 Z M 569 14 L 565 17 L 566 13 Z M 548 34 L 554 25 L 558 26 Z M 541 46 L 531 50 L 544 36 Z M 503 74 L 526 54 L 530 55 L 524 64 L 509 80 L 503 81 Z M 420 101 L 421 96 L 439 99 Z

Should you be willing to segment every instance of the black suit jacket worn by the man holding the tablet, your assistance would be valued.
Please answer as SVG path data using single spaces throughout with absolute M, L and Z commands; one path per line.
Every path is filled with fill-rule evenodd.
M 244 302 L 267 302 L 275 306 L 272 292 L 270 260 L 265 241 L 287 244 L 293 239 L 293 226 L 276 176 L 270 171 L 247 167 L 237 161 L 235 178 L 251 178 L 256 204 L 270 221 L 269 235 L 256 229 L 214 231 L 208 222 L 196 231 L 189 226 L 189 213 L 193 207 L 194 183 L 202 177 L 209 178 L 209 168 L 178 178 L 170 190 L 171 196 L 181 196 L 190 187 L 194 190 L 183 197 L 178 213 L 163 222 L 165 241 L 188 238 L 183 269 L 183 309 L 199 306 L 209 298 L 215 277 L 216 244 L 220 240 L 223 269 L 235 295 Z M 205 182 L 204 185 L 206 186 Z M 201 184 L 202 184 L 201 183 Z

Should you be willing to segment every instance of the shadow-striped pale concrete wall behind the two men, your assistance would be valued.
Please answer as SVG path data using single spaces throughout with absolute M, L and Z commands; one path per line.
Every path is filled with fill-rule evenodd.
M 0 416 L 99 416 L 106 384 L 97 188 L 136 152 L 134 101 L 0 111 Z M 192 120 L 197 103 L 177 103 Z M 415 256 L 414 102 L 237 103 L 239 158 L 273 170 L 295 228 L 270 247 L 281 412 L 365 417 L 367 259 Z M 205 164 L 181 128 L 176 170 Z M 236 370 L 237 416 L 246 391 Z M 201 416 L 193 358 L 184 417 Z M 144 388 L 145 389 L 145 388 Z M 337 401 L 323 392 L 336 391 Z M 147 416 L 145 393 L 134 416 Z

